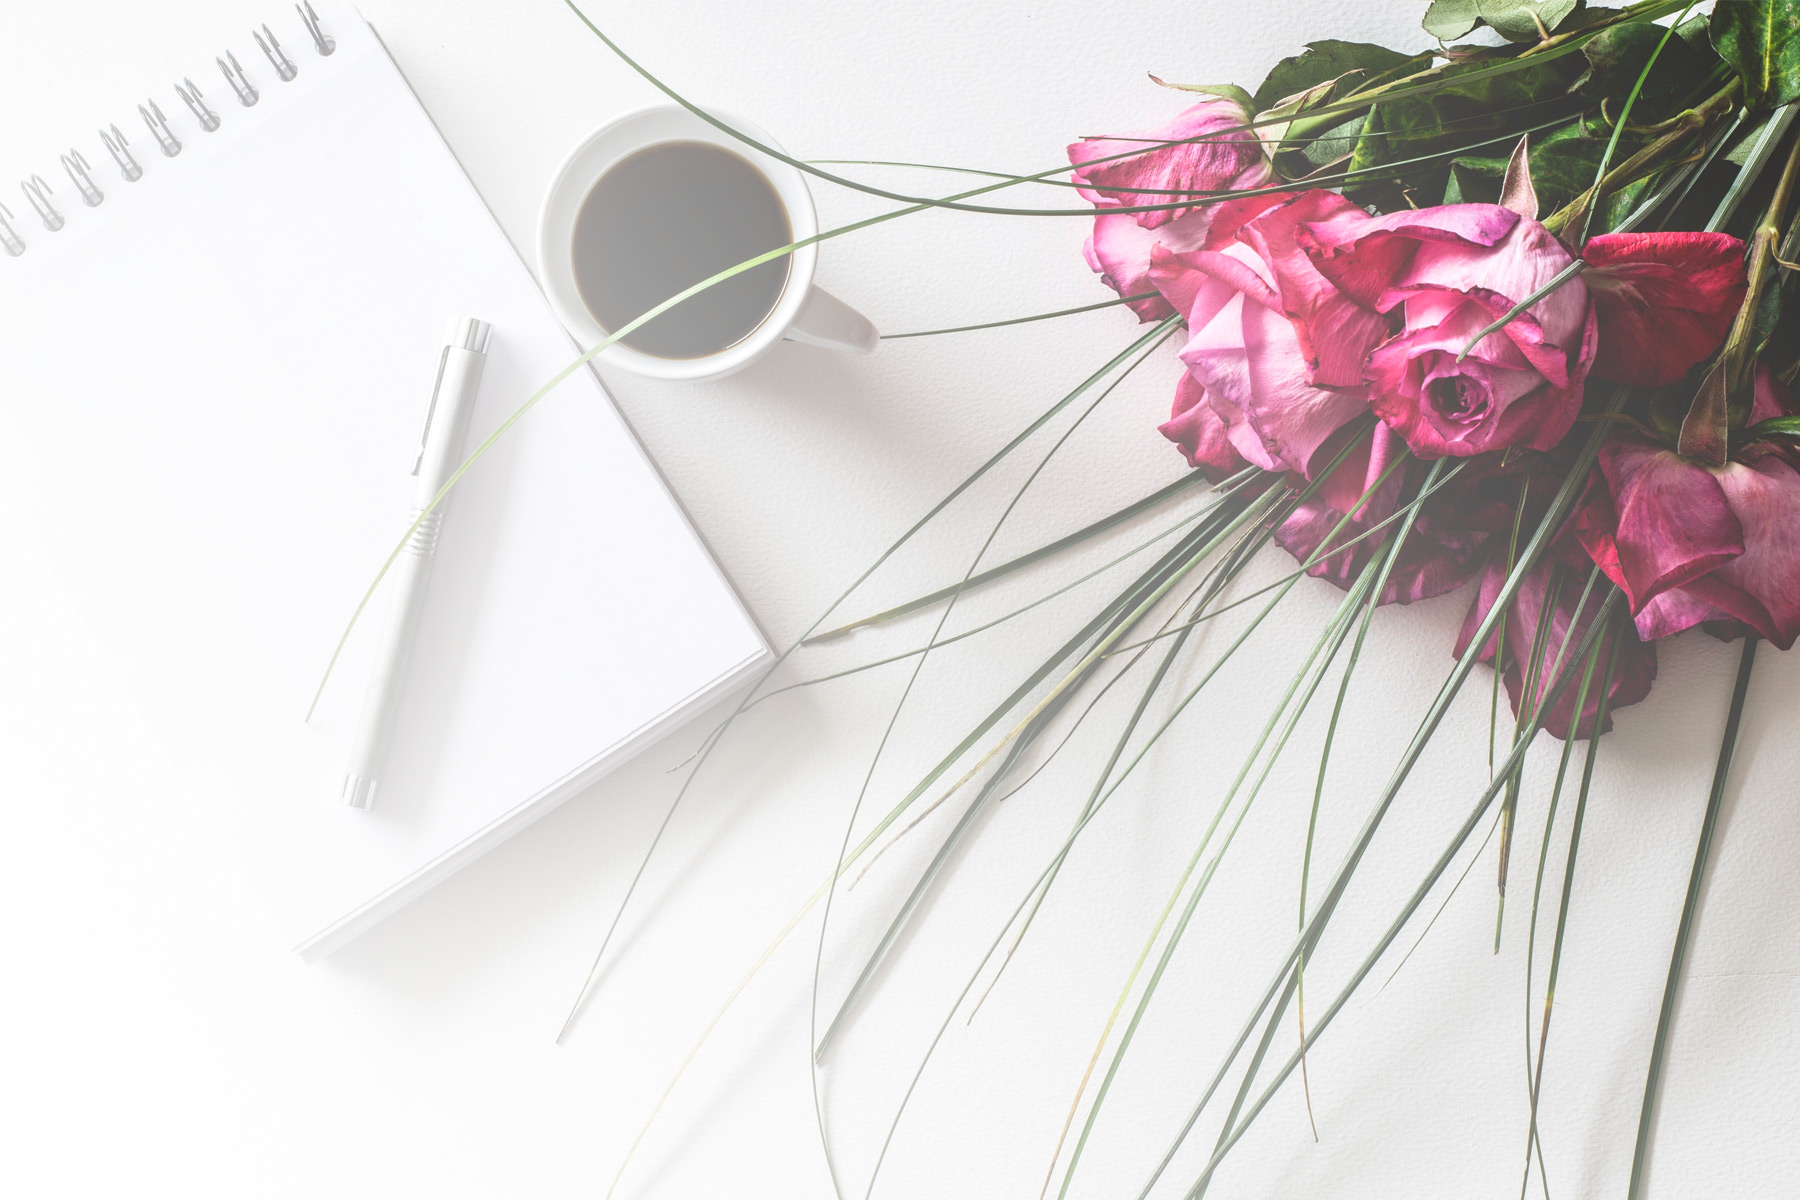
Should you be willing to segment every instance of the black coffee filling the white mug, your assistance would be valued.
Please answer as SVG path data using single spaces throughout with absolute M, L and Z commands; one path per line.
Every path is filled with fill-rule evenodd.
M 574 281 L 601 329 L 619 329 L 727 266 L 794 239 L 761 171 L 706 142 L 664 142 L 599 176 L 574 219 Z M 787 288 L 788 259 L 691 295 L 621 342 L 702 358 L 747 338 Z

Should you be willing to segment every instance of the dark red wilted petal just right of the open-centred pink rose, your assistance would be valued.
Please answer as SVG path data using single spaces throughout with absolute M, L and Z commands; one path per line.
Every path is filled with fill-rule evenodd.
M 1602 380 L 1665 387 L 1710 358 L 1744 302 L 1744 243 L 1726 234 L 1600 234 L 1582 246 Z

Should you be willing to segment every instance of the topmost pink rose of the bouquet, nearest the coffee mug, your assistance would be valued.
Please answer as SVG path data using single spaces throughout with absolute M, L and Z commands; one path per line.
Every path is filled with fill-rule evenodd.
M 1109 212 L 1109 209 L 1175 203 L 1179 193 L 1249 191 L 1274 180 L 1251 115 L 1222 97 L 1210 97 L 1179 113 L 1161 130 L 1089 137 L 1069 146 L 1071 178 L 1100 214 L 1084 246 L 1087 264 L 1120 295 L 1150 291 L 1150 250 L 1197 250 L 1206 241 L 1204 194 L 1181 209 Z M 1197 139 L 1197 140 L 1190 140 Z M 1166 144 L 1165 144 L 1166 142 Z M 1114 158 L 1143 146 L 1143 153 Z M 1111 162 L 1098 162 L 1111 158 Z M 1174 309 L 1161 297 L 1132 300 L 1143 320 L 1161 320 Z

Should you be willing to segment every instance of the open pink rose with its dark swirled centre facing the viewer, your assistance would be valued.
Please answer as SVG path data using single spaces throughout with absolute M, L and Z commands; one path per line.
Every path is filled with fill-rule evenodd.
M 1413 453 L 1550 450 L 1580 410 L 1598 349 L 1582 281 L 1571 279 L 1458 356 L 1573 257 L 1548 228 L 1485 203 L 1310 223 L 1298 234 L 1319 272 L 1402 327 L 1368 358 L 1368 401 Z

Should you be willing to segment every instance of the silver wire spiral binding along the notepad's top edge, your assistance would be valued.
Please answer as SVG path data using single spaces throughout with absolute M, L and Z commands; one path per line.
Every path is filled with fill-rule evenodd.
M 313 50 L 324 58 L 337 50 L 337 40 L 326 32 L 324 25 L 319 23 L 319 14 L 313 13 L 311 0 L 302 0 L 293 5 L 299 13 L 301 23 L 306 27 L 308 36 L 313 41 Z M 281 41 L 275 40 L 274 31 L 265 23 L 261 29 L 250 31 L 256 40 L 257 49 L 268 58 L 268 65 L 275 70 L 275 79 L 281 83 L 292 83 L 299 74 L 299 65 L 288 58 L 281 49 Z M 232 95 L 243 108 L 252 108 L 263 94 L 250 81 L 250 74 L 238 61 L 238 56 L 227 50 L 221 58 L 212 59 L 218 63 L 220 74 L 225 76 L 225 83 L 230 86 Z M 216 133 L 223 124 L 218 110 L 214 110 L 200 86 L 184 77 L 175 85 L 175 94 L 182 97 L 187 112 L 193 113 L 194 122 L 200 126 L 202 133 Z M 176 110 L 180 112 L 180 110 Z M 157 149 L 162 151 L 164 158 L 175 158 L 182 153 L 182 140 L 169 119 L 164 115 L 162 108 L 155 99 L 146 99 L 137 106 L 139 117 L 142 117 L 144 126 L 149 130 L 151 139 L 155 139 Z M 126 184 L 137 184 L 144 178 L 144 166 L 131 153 L 131 144 L 126 140 L 119 126 L 113 124 L 99 131 L 101 146 L 112 155 L 113 164 L 119 167 L 119 175 Z M 67 155 L 61 157 L 63 171 L 68 173 L 68 182 L 74 185 L 76 194 L 90 209 L 97 209 L 106 200 L 104 189 L 94 180 L 94 164 L 88 162 L 86 155 L 79 148 L 70 148 Z M 32 175 L 20 182 L 20 191 L 25 193 L 25 201 L 31 210 L 36 212 L 38 221 L 43 223 L 45 232 L 56 234 L 67 225 L 67 219 L 58 210 L 52 200 L 54 189 L 41 175 Z M 5 250 L 7 257 L 18 257 L 29 248 L 25 237 L 20 236 L 14 227 L 18 218 L 0 203 L 0 250 Z

